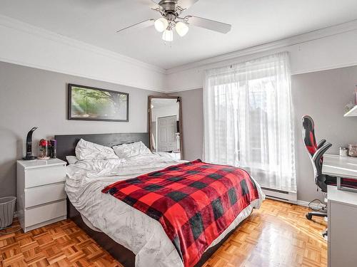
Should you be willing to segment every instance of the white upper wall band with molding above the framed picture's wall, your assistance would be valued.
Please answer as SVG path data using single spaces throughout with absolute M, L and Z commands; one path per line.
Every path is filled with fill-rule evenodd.
M 0 16 L 0 61 L 163 91 L 156 66 Z M 138 78 L 140 77 L 140 78 Z

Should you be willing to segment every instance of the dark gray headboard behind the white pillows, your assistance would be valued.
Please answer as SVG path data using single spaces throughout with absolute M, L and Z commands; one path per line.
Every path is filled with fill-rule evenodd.
M 81 138 L 99 145 L 106 145 L 107 147 L 139 141 L 144 142 L 144 144 L 149 147 L 149 133 L 147 132 L 92 135 L 55 135 L 54 139 L 57 140 L 57 157 L 66 161 L 66 156 L 75 156 L 76 153 L 74 150 Z

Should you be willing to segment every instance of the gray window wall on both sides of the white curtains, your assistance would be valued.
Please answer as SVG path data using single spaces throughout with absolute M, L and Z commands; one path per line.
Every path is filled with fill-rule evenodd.
M 338 68 L 292 76 L 292 96 L 296 132 L 296 179 L 298 199 L 311 201 L 323 198 L 316 192 L 313 169 L 301 138 L 301 117 L 315 120 L 316 139 L 333 144 L 328 153 L 338 153 L 338 147 L 357 143 L 357 117 L 343 117 L 344 106 L 353 100 L 357 85 L 357 66 Z M 183 98 L 184 149 L 187 159 L 202 155 L 203 109 L 202 89 L 187 90 L 173 95 Z

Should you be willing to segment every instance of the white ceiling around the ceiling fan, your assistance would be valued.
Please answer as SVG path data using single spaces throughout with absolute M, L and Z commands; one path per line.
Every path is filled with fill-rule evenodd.
M 185 14 L 231 23 L 230 33 L 191 26 L 172 46 L 154 26 L 116 33 L 154 18 L 154 6 L 151 0 L 1 0 L 0 14 L 166 69 L 357 19 L 356 0 L 200 0 Z

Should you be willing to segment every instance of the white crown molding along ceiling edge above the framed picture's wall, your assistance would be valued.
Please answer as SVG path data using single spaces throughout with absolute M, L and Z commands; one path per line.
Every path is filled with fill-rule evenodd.
M 143 61 L 139 61 L 137 59 L 121 55 L 114 51 L 109 51 L 107 49 L 100 48 L 98 46 L 93 46 L 89 43 L 85 43 L 74 38 L 62 36 L 61 34 L 54 33 L 53 31 L 48 31 L 44 28 L 39 28 L 29 23 L 25 23 L 17 19 L 12 19 L 8 16 L 0 15 L 0 25 L 6 26 L 8 28 L 14 28 L 18 31 L 23 31 L 32 35 L 40 36 L 41 38 L 46 38 L 51 41 L 56 41 L 58 43 L 64 43 L 66 46 L 72 46 L 81 50 L 89 51 L 91 53 L 97 53 L 101 56 L 106 56 L 116 61 L 124 61 L 140 68 L 146 68 L 148 70 L 155 71 L 156 73 L 166 74 L 166 70 L 164 68 L 159 68 L 158 66 L 154 66 L 149 63 L 145 63 Z

